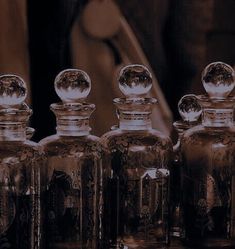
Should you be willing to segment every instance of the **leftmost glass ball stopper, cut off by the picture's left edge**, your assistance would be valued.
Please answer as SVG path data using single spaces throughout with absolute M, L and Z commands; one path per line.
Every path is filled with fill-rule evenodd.
M 0 105 L 15 106 L 24 102 L 27 87 L 22 78 L 13 74 L 0 76 Z

